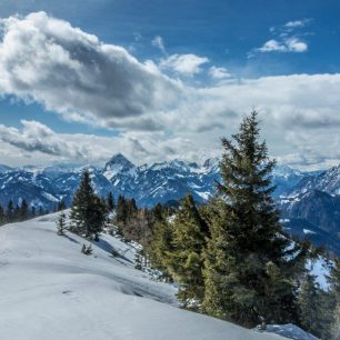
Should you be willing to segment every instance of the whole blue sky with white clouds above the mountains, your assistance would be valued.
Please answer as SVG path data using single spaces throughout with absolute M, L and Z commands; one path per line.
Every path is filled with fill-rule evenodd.
M 280 163 L 340 163 L 336 0 L 2 0 L 0 162 L 202 162 L 244 114 Z

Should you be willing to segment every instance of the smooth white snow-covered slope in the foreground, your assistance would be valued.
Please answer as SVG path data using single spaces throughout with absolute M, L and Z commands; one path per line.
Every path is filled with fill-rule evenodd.
M 57 214 L 0 228 L 1 340 L 279 340 L 177 308 L 174 288 L 133 269 L 133 250 L 56 233 Z M 116 249 L 123 257 L 113 258 Z

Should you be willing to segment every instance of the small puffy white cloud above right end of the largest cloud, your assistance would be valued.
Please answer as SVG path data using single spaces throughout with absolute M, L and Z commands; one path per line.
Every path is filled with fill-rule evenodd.
M 209 62 L 207 57 L 189 54 L 172 54 L 160 62 L 161 69 L 170 69 L 178 73 L 193 76 L 201 72 L 201 66 Z

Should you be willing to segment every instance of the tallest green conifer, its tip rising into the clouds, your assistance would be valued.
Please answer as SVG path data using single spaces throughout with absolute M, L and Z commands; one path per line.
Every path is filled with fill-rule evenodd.
M 288 257 L 293 251 L 271 197 L 274 161 L 258 124 L 253 111 L 232 140 L 222 139 L 220 197 L 204 252 L 203 311 L 249 327 L 297 319 L 294 269 L 303 254 Z

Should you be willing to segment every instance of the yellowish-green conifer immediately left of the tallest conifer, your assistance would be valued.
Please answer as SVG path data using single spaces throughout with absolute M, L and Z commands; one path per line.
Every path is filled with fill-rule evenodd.
M 184 308 L 198 310 L 203 299 L 203 258 L 208 226 L 200 217 L 191 194 L 182 201 L 173 221 L 173 249 L 168 268 L 179 283 L 178 298 Z

